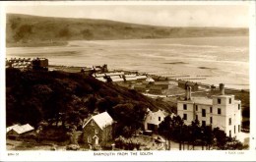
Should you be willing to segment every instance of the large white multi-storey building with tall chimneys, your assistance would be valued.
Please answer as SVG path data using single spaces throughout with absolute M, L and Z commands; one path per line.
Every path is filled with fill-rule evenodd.
M 186 125 L 198 119 L 202 126 L 219 127 L 226 135 L 238 136 L 241 131 L 241 101 L 234 95 L 224 94 L 224 84 L 220 84 L 220 95 L 212 98 L 191 97 L 191 88 L 186 91 L 185 100 L 177 101 L 177 114 Z

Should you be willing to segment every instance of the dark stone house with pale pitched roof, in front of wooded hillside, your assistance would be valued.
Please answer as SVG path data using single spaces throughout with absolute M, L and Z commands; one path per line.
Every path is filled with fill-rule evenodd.
M 97 114 L 83 124 L 83 139 L 90 145 L 100 145 L 113 138 L 113 119 L 107 112 Z

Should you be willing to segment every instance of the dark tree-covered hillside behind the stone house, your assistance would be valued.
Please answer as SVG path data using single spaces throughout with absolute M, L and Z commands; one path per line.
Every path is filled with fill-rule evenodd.
M 7 126 L 29 123 L 37 128 L 47 121 L 50 126 L 61 122 L 64 130 L 74 125 L 81 129 L 84 119 L 94 112 L 107 111 L 122 135 L 125 127 L 136 130 L 142 126 L 147 108 L 173 110 L 135 90 L 79 73 L 6 70 Z

